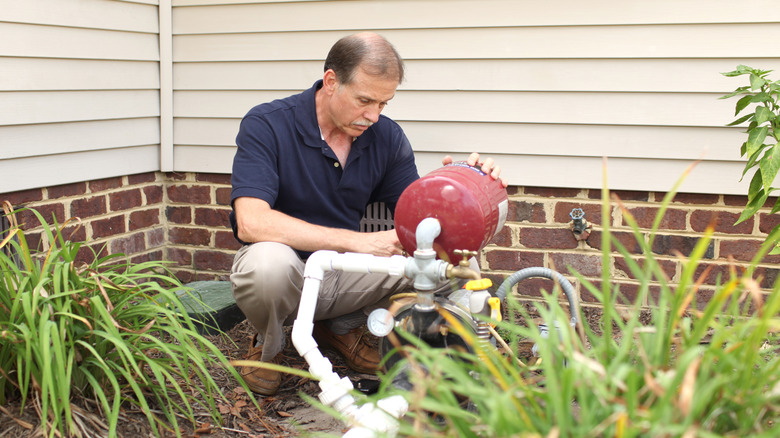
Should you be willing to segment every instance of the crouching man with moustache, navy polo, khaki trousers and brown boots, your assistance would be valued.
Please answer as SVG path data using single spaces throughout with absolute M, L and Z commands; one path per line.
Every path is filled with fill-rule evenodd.
M 231 224 L 244 246 L 230 279 L 236 303 L 258 331 L 247 359 L 279 362 L 283 326 L 295 319 L 311 252 L 402 253 L 394 230 L 358 229 L 368 204 L 394 208 L 419 178 L 406 135 L 380 115 L 403 74 L 387 40 L 374 33 L 351 35 L 331 48 L 323 78 L 312 88 L 258 105 L 242 120 Z M 478 154 L 469 157 L 472 165 L 478 160 Z M 451 161 L 445 157 L 443 163 Z M 492 159 L 482 170 L 494 178 L 500 173 Z M 327 273 L 315 339 L 344 355 L 350 368 L 376 371 L 380 358 L 363 337 L 363 310 L 407 285 L 386 275 Z M 274 394 L 281 382 L 278 372 L 263 368 L 246 367 L 241 375 L 263 395 Z

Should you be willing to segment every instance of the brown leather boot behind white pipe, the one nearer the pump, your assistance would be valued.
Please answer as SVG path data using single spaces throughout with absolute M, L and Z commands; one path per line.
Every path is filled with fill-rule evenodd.
M 379 352 L 366 338 L 364 327 L 350 330 L 346 334 L 337 335 L 330 331 L 322 322 L 314 323 L 314 340 L 324 347 L 338 351 L 353 371 L 366 374 L 376 374 L 379 369 Z

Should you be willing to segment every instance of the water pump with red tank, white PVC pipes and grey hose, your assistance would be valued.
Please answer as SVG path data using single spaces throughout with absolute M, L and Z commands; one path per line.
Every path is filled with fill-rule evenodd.
M 507 193 L 499 181 L 466 163 L 453 163 L 415 181 L 398 200 L 395 229 L 411 256 L 376 257 L 317 251 L 309 257 L 292 341 L 319 381 L 320 401 L 348 420 L 351 429 L 345 437 L 393 436 L 398 428 L 397 419 L 405 414 L 408 405 L 403 397 L 393 396 L 358 407 L 351 394 L 352 382 L 333 372 L 330 361 L 317 348 L 312 336 L 313 319 L 324 272 L 383 273 L 412 280 L 411 299 L 369 316 L 369 329 L 380 337 L 382 354 L 392 349 L 385 336 L 396 327 L 434 347 L 468 350 L 469 343 L 451 329 L 450 321 L 457 321 L 488 342 L 490 322 L 477 315 L 498 321 L 506 292 L 527 278 L 525 273 L 516 273 L 492 294 L 490 280 L 482 279 L 469 262 L 501 230 L 507 210 Z M 560 274 L 547 271 L 534 271 L 530 275 L 554 278 L 563 287 L 569 302 L 575 304 L 571 284 Z M 465 284 L 449 294 L 435 293 L 443 281 L 452 279 Z M 572 315 L 576 315 L 574 307 Z M 397 360 L 398 357 L 389 356 L 386 367 L 392 367 Z

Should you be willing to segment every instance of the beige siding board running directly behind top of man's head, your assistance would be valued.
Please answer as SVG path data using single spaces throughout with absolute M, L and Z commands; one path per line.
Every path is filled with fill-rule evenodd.
M 174 9 L 174 16 L 175 13 Z M 772 47 L 750 43 L 771 40 L 777 25 L 561 25 L 380 31 L 406 59 L 720 58 L 766 56 Z M 174 52 L 177 61 L 324 59 L 331 44 L 348 33 L 351 32 L 181 35 L 175 38 Z M 738 37 L 725 38 L 733 35 Z

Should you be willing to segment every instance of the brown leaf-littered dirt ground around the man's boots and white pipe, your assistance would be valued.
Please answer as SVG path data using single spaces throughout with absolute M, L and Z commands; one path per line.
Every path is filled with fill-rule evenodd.
M 209 337 L 221 351 L 231 360 L 243 359 L 253 331 L 244 321 L 228 333 L 230 340 L 218 336 Z M 234 344 L 235 343 L 235 344 Z M 283 365 L 299 369 L 307 369 L 305 361 L 287 343 L 284 350 Z M 356 374 L 349 370 L 343 360 L 336 354 L 324 351 L 323 354 L 333 363 L 334 371 L 340 376 L 347 376 L 353 382 L 360 379 L 378 379 L 376 376 Z M 278 438 L 294 436 L 341 436 L 346 432 L 343 423 L 331 415 L 311 406 L 304 401 L 300 394 L 305 393 L 315 397 L 319 394 L 316 382 L 289 374 L 283 375 L 282 386 L 276 395 L 270 397 L 257 396 L 261 410 L 258 410 L 251 402 L 246 391 L 224 370 L 212 370 L 212 376 L 218 383 L 228 402 L 219 403 L 218 407 L 223 416 L 223 424 L 215 425 L 204 412 L 200 417 L 201 423 L 192 428 L 186 421 L 180 423 L 185 430 L 184 437 L 204 438 Z M 0 406 L 0 438 L 20 438 L 40 436 L 38 428 L 40 422 L 37 419 L 33 403 L 27 403 L 22 414 L 19 414 L 20 404 L 18 400 L 11 400 L 5 406 Z M 102 419 L 94 413 L 94 408 L 83 406 L 84 413 L 81 416 L 85 423 L 92 424 L 90 430 L 92 437 L 106 436 L 107 431 L 101 428 Z M 117 433 L 123 438 L 154 437 L 154 433 L 140 410 L 125 410 L 119 419 Z M 162 436 L 172 437 L 173 433 L 164 433 Z

